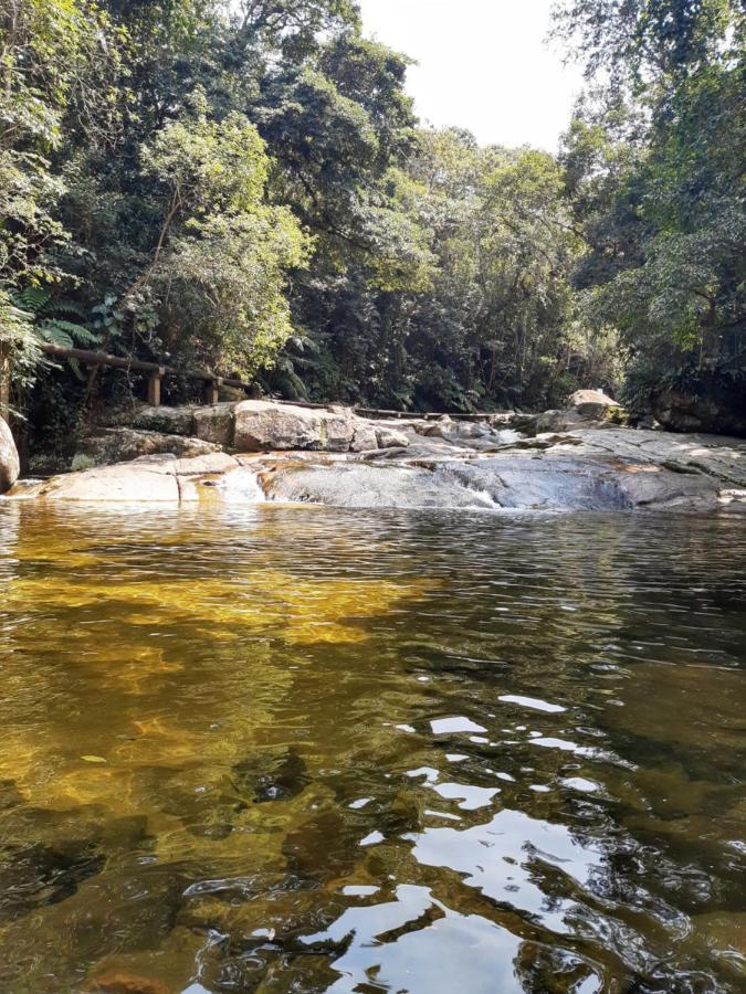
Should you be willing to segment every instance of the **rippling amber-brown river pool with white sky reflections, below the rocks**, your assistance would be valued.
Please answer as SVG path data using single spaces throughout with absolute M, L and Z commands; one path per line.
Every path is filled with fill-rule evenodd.
M 0 990 L 746 985 L 746 530 L 0 505 Z

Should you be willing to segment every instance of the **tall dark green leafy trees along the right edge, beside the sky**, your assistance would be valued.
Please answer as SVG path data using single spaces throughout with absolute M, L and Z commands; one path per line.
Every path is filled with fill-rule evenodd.
M 619 330 L 642 410 L 669 378 L 706 391 L 746 370 L 745 22 L 728 0 L 607 7 L 571 0 L 560 13 L 589 73 L 611 74 L 564 161 L 589 245 L 581 313 Z

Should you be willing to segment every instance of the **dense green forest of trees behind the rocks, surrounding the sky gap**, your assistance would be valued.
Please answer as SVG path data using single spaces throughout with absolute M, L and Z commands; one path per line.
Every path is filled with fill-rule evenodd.
M 42 341 L 290 399 L 539 409 L 590 385 L 737 416 L 740 0 L 558 3 L 587 87 L 556 156 L 421 127 L 407 55 L 351 0 L 0 12 L 0 352 L 50 437 L 141 384 Z

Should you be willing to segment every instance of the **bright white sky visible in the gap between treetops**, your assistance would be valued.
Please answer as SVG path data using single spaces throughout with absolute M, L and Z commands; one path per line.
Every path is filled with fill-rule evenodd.
M 544 43 L 554 0 L 358 2 L 367 34 L 418 61 L 408 89 L 423 121 L 556 151 L 582 81 Z

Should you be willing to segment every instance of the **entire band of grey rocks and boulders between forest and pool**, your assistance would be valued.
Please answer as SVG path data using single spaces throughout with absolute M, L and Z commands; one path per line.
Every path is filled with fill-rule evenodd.
M 266 401 L 144 408 L 82 444 L 74 465 L 87 468 L 6 499 L 746 511 L 746 442 L 620 427 L 585 393 L 564 412 L 481 422 Z

